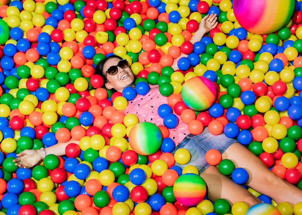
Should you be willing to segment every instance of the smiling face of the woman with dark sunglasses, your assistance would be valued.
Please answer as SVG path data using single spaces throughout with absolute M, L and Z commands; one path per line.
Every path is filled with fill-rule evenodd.
M 110 58 L 108 59 L 103 67 L 103 72 L 106 72 L 107 69 L 111 66 L 116 66 L 120 61 L 119 58 Z M 110 75 L 106 73 L 107 83 L 105 86 L 107 89 L 111 90 L 112 88 L 118 92 L 122 92 L 124 88 L 132 86 L 134 81 L 134 75 L 130 67 L 120 68 L 117 67 L 118 71 L 115 75 Z

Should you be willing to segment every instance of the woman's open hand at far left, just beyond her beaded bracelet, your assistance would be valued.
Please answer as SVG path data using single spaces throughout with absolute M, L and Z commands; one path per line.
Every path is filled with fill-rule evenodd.
M 42 152 L 42 150 L 41 150 Z M 43 153 L 43 152 L 42 152 Z M 42 160 L 42 156 L 38 150 L 24 150 L 17 154 L 17 158 L 13 160 L 16 166 L 20 168 L 29 169 L 39 163 Z

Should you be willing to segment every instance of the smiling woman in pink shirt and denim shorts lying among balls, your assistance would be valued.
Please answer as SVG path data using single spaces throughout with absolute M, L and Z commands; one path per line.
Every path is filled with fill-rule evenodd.
M 192 36 L 191 42 L 200 41 L 205 33 L 216 27 L 216 20 L 216 14 L 204 17 L 198 32 Z M 186 55 L 180 57 L 183 56 Z M 177 59 L 172 66 L 175 70 L 177 69 L 176 63 Z M 134 87 L 133 72 L 128 67 L 127 61 L 118 56 L 110 56 L 102 60 L 98 64 L 95 73 L 102 75 L 108 89 L 122 92 L 125 87 Z M 161 96 L 158 86 L 153 86 L 145 96 L 138 95 L 134 100 L 128 102 L 124 112 L 137 115 L 140 122 L 146 121 L 161 125 L 162 119 L 156 113 L 159 105 L 164 103 L 168 103 L 167 97 Z M 190 151 L 191 160 L 188 164 L 198 168 L 201 177 L 207 184 L 208 198 L 212 201 L 224 198 L 231 205 L 238 201 L 244 201 L 249 206 L 261 203 L 257 197 L 245 188 L 233 182 L 229 177 L 222 175 L 216 166 L 207 164 L 204 155 L 212 148 L 220 151 L 222 159 L 232 160 L 236 168 L 242 167 L 247 170 L 249 179 L 246 185 L 250 188 L 271 197 L 276 203 L 287 201 L 294 206 L 297 202 L 302 201 L 302 191 L 300 189 L 275 175 L 252 152 L 234 139 L 227 138 L 224 134 L 214 136 L 205 128 L 201 134 L 194 136 L 189 134 L 187 125 L 180 119 L 179 125 L 175 129 L 170 129 L 169 137 L 174 139 L 176 144 L 179 143 L 173 153 L 179 148 L 186 148 Z M 21 168 L 30 168 L 43 160 L 46 154 L 64 155 L 65 148 L 69 143 L 79 144 L 79 141 L 71 140 L 67 143 L 58 143 L 47 147 L 45 151 L 43 151 L 44 149 L 24 150 L 13 161 L 17 162 L 16 165 Z M 175 163 L 175 165 L 178 164 Z

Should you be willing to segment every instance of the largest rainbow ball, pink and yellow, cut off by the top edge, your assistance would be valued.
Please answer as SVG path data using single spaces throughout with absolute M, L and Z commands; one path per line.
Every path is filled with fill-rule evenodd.
M 234 0 L 239 24 L 252 33 L 272 33 L 283 27 L 294 12 L 295 0 Z

